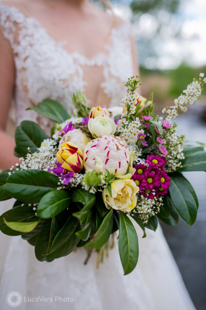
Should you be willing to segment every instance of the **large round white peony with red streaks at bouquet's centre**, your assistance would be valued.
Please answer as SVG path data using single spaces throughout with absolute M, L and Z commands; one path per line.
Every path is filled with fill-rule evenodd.
M 125 175 L 130 163 L 127 143 L 121 137 L 104 135 L 91 140 L 84 150 L 85 171 L 95 169 L 95 158 L 102 162 L 103 170 L 114 175 Z

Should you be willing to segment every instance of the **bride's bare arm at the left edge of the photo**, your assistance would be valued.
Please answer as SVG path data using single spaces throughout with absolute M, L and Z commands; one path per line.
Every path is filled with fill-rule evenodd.
M 5 170 L 18 162 L 15 141 L 6 134 L 6 121 L 15 84 L 15 65 L 9 42 L 0 31 L 0 169 Z

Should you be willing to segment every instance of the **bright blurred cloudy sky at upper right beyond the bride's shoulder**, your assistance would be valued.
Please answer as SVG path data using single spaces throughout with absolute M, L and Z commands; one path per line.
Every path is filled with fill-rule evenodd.
M 137 20 L 129 8 L 131 2 L 113 0 L 112 4 L 117 15 L 133 22 L 141 65 L 173 69 L 182 62 L 192 67 L 206 64 L 206 0 L 180 0 L 172 15 L 160 9 L 155 14 L 137 15 Z

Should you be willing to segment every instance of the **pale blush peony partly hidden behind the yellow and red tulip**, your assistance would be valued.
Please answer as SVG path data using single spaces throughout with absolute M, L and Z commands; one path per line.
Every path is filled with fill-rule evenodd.
M 68 131 L 61 140 L 59 141 L 59 150 L 61 150 L 61 145 L 64 144 L 65 142 L 71 142 L 74 143 L 82 153 L 84 152 L 84 149 L 86 147 L 86 144 L 90 141 L 91 139 L 87 137 L 85 134 L 80 129 L 74 129 L 72 131 Z

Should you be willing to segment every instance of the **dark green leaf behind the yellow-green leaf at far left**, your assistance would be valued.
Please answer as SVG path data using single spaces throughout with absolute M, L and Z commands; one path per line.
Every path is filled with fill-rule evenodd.
M 6 212 L 4 212 L 0 216 L 0 230 L 8 236 L 19 236 L 22 235 L 23 232 L 15 231 L 12 228 L 9 228 L 5 222 L 37 222 L 39 218 L 35 215 L 35 211 L 32 210 L 32 207 L 28 205 L 24 206 L 16 206 Z

